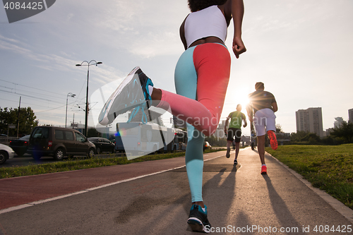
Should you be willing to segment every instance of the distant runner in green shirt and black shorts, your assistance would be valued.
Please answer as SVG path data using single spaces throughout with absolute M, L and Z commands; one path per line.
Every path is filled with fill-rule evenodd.
M 228 122 L 229 128 L 228 128 Z M 248 125 L 246 123 L 246 116 L 241 112 L 241 104 L 237 105 L 237 111 L 232 112 L 227 117 L 227 121 L 225 121 L 225 133 L 227 133 L 227 154 L 226 157 L 230 157 L 230 146 L 232 142 L 235 142 L 235 158 L 234 165 L 238 164 L 238 155 L 240 148 L 240 140 L 241 140 L 241 123 L 244 121 L 244 127 Z M 227 132 L 228 128 L 228 132 Z M 235 137 L 235 138 L 234 138 Z

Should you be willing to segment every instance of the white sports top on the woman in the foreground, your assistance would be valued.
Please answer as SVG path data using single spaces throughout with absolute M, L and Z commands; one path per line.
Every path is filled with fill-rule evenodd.
M 227 38 L 227 22 L 217 5 L 190 13 L 186 18 L 184 30 L 188 48 L 196 40 L 205 37 L 218 37 L 223 42 Z

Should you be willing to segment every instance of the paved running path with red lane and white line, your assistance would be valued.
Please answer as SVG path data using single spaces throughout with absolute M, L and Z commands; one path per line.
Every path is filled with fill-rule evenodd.
M 214 234 L 352 234 L 352 220 L 341 214 L 352 210 L 333 200 L 338 212 L 273 157 L 266 156 L 265 176 L 257 152 L 241 150 L 239 168 L 232 157 L 205 156 L 203 199 Z M 194 234 L 186 224 L 191 197 L 183 166 L 179 157 L 0 180 L 0 195 L 7 195 L 0 234 Z

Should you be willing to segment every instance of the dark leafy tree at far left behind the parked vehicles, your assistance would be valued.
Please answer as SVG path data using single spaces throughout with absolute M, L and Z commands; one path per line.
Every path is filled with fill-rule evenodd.
M 17 132 L 17 120 L 19 121 L 20 135 L 30 134 L 32 128 L 38 126 L 37 116 L 30 107 L 20 108 L 20 119 L 18 120 L 18 109 L 4 109 L 0 108 L 0 132 L 8 133 L 9 136 L 15 136 Z M 8 128 L 9 125 L 14 124 L 16 128 Z

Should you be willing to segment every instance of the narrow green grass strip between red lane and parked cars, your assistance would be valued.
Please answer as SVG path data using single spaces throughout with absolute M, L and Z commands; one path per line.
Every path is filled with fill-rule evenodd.
M 205 150 L 206 152 L 217 152 L 222 150 Z M 47 164 L 32 164 L 25 167 L 4 167 L 0 168 L 0 179 L 18 177 L 18 176 L 32 176 L 37 174 L 48 174 L 62 171 L 74 171 L 78 169 L 89 169 L 95 167 L 107 167 L 120 164 L 130 164 L 133 162 L 145 162 L 157 159 L 167 159 L 173 157 L 185 156 L 185 152 L 166 153 L 157 155 L 145 155 L 136 159 L 128 160 L 126 157 L 115 157 L 112 155 L 110 158 L 92 157 L 87 158 L 68 158 L 62 162 L 54 162 Z

